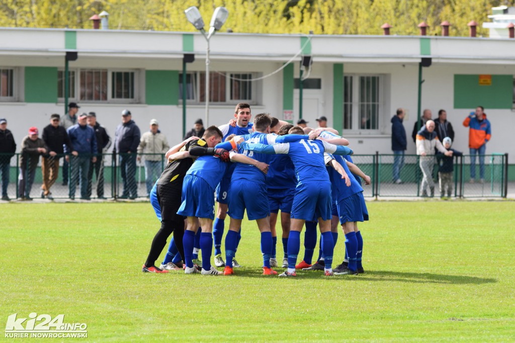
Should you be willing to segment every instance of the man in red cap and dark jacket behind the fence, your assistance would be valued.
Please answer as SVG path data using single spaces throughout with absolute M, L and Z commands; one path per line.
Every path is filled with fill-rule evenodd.
M 39 156 L 48 151 L 45 142 L 38 137 L 38 128 L 32 126 L 28 136 L 22 140 L 22 156 L 20 157 L 20 176 L 18 177 L 18 194 L 21 200 L 32 200 L 30 190 L 36 175 Z

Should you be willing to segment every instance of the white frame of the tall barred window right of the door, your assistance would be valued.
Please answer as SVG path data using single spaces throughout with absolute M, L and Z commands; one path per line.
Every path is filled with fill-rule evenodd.
M 357 134 L 357 133 L 366 133 L 366 134 L 381 134 L 381 128 L 383 125 L 383 112 L 385 108 L 385 81 L 384 81 L 384 75 L 381 74 L 345 74 L 344 77 L 350 76 L 352 77 L 352 101 L 351 101 L 351 108 L 352 108 L 352 118 L 351 118 L 351 127 L 352 129 L 346 129 L 345 126 L 342 127 L 345 133 L 347 134 Z M 361 129 L 359 118 L 359 95 L 361 92 L 361 89 L 359 89 L 359 78 L 360 77 L 377 77 L 378 78 L 378 84 L 379 84 L 379 101 L 378 103 L 378 110 L 377 110 L 377 129 Z M 344 78 L 345 80 L 345 78 Z M 344 85 L 345 87 L 345 85 Z M 345 90 L 344 90 L 345 91 Z M 344 94 L 342 94 L 342 101 L 345 100 Z M 345 102 L 344 105 L 344 113 L 342 113 L 342 123 L 345 125 Z

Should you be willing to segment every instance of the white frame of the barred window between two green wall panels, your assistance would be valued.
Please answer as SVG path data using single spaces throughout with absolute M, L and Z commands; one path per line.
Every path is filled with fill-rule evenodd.
M 107 71 L 107 99 L 106 100 L 81 100 L 80 99 L 80 72 L 84 70 L 106 70 Z M 59 71 L 64 69 L 59 68 Z M 71 68 L 70 72 L 75 73 L 75 97 L 69 97 L 68 101 L 73 100 L 75 102 L 81 102 L 82 104 L 138 104 L 141 102 L 140 95 L 140 73 L 139 69 L 126 69 L 126 68 Z M 112 75 L 115 72 L 131 72 L 134 73 L 134 98 L 132 99 L 117 99 L 112 97 Z M 64 98 L 58 98 L 59 102 L 63 102 Z

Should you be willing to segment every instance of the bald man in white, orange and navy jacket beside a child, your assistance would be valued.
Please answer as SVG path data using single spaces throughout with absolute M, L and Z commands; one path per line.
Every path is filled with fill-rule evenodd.
M 435 132 L 435 122 L 431 119 L 417 132 L 417 155 L 420 156 L 420 169 L 422 170 L 422 183 L 420 188 L 422 196 L 427 197 L 427 186 L 431 197 L 435 196 L 435 183 L 433 182 L 433 167 L 435 165 L 435 147 L 445 156 L 452 156 L 452 151 L 445 149 L 438 140 Z

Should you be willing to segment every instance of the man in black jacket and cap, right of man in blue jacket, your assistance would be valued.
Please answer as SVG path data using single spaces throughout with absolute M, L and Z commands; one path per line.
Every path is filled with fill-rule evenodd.
M 105 127 L 101 126 L 100 123 L 96 121 L 96 113 L 90 112 L 86 118 L 88 125 L 93 128 L 95 131 L 95 138 L 97 141 L 97 159 L 96 162 L 93 162 L 90 166 L 90 170 L 88 172 L 88 198 L 91 198 L 92 192 L 92 179 L 93 179 L 93 171 L 96 174 L 96 188 L 97 188 L 97 198 L 105 199 L 104 197 L 104 157 L 103 153 L 111 146 L 111 139 L 107 134 L 107 130 Z

